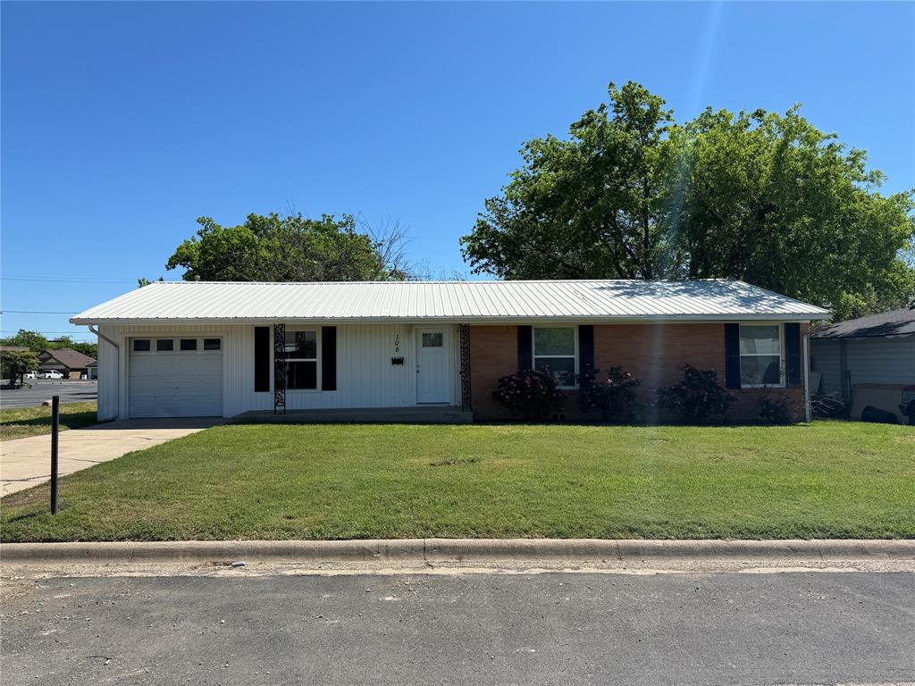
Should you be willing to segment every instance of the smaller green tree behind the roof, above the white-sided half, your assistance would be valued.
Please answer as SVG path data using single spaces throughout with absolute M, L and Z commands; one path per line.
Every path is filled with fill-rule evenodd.
M 408 276 L 404 231 L 396 222 L 373 231 L 358 227 L 350 215 L 311 220 L 274 212 L 250 214 L 238 226 L 221 226 L 209 217 L 197 223 L 197 234 L 182 242 L 166 264 L 167 269 L 183 267 L 186 281 L 368 281 Z

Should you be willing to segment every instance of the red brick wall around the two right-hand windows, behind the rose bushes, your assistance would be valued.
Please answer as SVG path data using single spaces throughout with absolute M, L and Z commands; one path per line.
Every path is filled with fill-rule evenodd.
M 807 325 L 801 325 L 802 336 Z M 492 391 L 501 376 L 518 366 L 517 327 L 470 327 L 471 398 L 474 417 L 480 420 L 505 419 L 511 415 L 492 400 Z M 594 327 L 594 361 L 599 370 L 622 366 L 640 379 L 639 396 L 649 408 L 649 419 L 673 419 L 656 408 L 656 391 L 680 379 L 684 364 L 716 370 L 725 381 L 724 324 L 612 324 Z M 791 405 L 800 408 L 802 388 L 761 391 L 734 389 L 737 397 L 729 418 L 748 422 L 759 413 L 760 394 L 787 394 Z M 579 418 L 574 392 L 569 393 L 566 417 Z

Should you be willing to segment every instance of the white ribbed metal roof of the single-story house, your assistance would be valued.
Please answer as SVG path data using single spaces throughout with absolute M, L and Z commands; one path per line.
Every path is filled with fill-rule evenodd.
M 155 282 L 73 324 L 822 319 L 828 311 L 739 281 Z

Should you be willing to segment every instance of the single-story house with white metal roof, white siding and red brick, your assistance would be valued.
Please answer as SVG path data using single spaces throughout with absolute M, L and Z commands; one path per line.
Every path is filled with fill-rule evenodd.
M 495 420 L 501 376 L 621 365 L 646 400 L 716 370 L 736 419 L 803 407 L 829 313 L 736 281 L 156 282 L 70 319 L 99 336 L 99 418 L 443 406 Z M 363 410 L 364 413 L 364 410 Z

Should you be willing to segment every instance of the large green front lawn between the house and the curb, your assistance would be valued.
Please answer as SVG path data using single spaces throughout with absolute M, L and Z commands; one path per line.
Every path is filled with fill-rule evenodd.
M 3 541 L 915 537 L 915 430 L 228 425 L 2 501 Z

